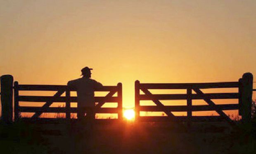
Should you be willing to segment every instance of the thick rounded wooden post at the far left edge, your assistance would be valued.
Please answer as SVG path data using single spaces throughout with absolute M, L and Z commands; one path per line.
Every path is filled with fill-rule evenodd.
M 1 105 L 2 121 L 5 123 L 12 122 L 12 97 L 13 97 L 13 76 L 3 75 L 1 80 Z

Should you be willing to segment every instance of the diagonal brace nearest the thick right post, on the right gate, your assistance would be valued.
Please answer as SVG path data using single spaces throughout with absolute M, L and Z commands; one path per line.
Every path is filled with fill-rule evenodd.
M 205 94 L 204 94 L 199 88 L 193 88 L 193 90 L 194 90 L 199 96 L 201 96 L 201 97 L 204 99 L 204 101 L 206 101 L 206 103 L 209 104 L 210 107 L 213 108 L 214 106 L 216 106 L 216 104 L 215 104 L 213 101 L 211 101 L 211 99 L 207 98 L 207 97 L 205 96 Z M 216 112 L 217 112 L 220 116 L 222 116 L 226 121 L 228 121 L 231 125 L 235 125 L 235 122 L 233 122 L 233 121 L 230 119 L 230 117 L 228 117 L 228 115 L 226 115 L 222 110 L 220 110 L 219 108 L 216 108 Z

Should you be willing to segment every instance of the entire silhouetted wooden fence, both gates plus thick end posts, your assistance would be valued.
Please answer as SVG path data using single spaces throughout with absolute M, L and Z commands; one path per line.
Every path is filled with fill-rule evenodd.
M 76 97 L 70 96 L 70 91 L 66 85 L 19 85 L 16 81 L 13 86 L 11 75 L 1 76 L 1 102 L 2 102 L 2 121 L 12 122 L 13 116 L 13 91 L 14 91 L 14 120 L 18 120 L 22 112 L 34 113 L 28 120 L 38 120 L 42 113 L 65 113 L 65 120 L 71 119 L 71 113 L 77 113 L 77 108 L 71 107 L 71 102 L 77 102 Z M 238 88 L 236 93 L 204 93 L 201 89 L 209 88 Z M 152 94 L 150 89 L 184 89 L 186 94 Z M 142 90 L 145 94 L 140 94 Z M 47 96 L 21 96 L 19 91 L 56 91 L 52 97 Z M 122 113 L 122 84 L 117 86 L 104 86 L 97 91 L 109 92 L 105 97 L 95 97 L 97 113 L 117 113 L 118 120 L 123 120 Z M 195 94 L 192 93 L 195 92 Z M 65 92 L 65 96 L 61 96 Z M 117 96 L 113 95 L 117 92 Z M 222 83 L 140 83 L 135 81 L 135 120 L 136 121 L 220 121 L 225 120 L 230 124 L 233 121 L 223 110 L 239 110 L 244 122 L 251 121 L 251 104 L 253 92 L 253 75 L 246 73 L 238 82 Z M 193 106 L 192 100 L 202 99 L 208 105 Z M 212 99 L 238 99 L 238 103 L 216 105 Z M 152 100 L 156 106 L 141 106 L 140 101 Z M 186 100 L 186 106 L 164 106 L 161 100 Z M 42 107 L 19 106 L 19 101 L 45 102 Z M 53 102 L 64 102 L 65 107 L 50 107 Z M 102 108 L 106 102 L 117 102 L 117 108 Z M 164 112 L 167 116 L 140 116 L 140 111 Z M 216 111 L 218 116 L 192 116 L 193 111 Z M 172 112 L 187 112 L 187 116 L 175 116 Z M 39 118 L 43 120 L 43 118 Z M 50 120 L 47 118 L 47 120 Z M 56 120 L 56 119 L 55 119 Z

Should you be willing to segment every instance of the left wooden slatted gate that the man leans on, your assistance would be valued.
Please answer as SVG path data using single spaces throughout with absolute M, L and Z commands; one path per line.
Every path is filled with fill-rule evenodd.
M 48 96 L 21 96 L 19 91 L 56 91 L 52 97 Z M 19 85 L 17 81 L 14 82 L 14 120 L 28 120 L 28 121 L 61 121 L 71 119 L 71 113 L 77 113 L 76 107 L 71 107 L 70 103 L 77 102 L 77 97 L 71 97 L 70 92 L 76 91 L 70 89 L 66 85 Z M 103 86 L 96 90 L 97 92 L 109 92 L 105 97 L 95 97 L 96 113 L 117 113 L 118 119 L 96 119 L 96 121 L 117 121 L 122 120 L 122 84 L 117 86 Z M 65 93 L 65 96 L 61 96 Z M 113 95 L 117 93 L 117 96 Z M 45 102 L 42 107 L 36 106 L 19 106 L 19 101 L 22 102 Z M 65 107 L 50 107 L 54 102 L 64 102 Z M 116 108 L 102 108 L 104 103 L 114 102 L 118 103 Z M 33 103 L 35 104 L 35 103 Z M 86 110 L 86 109 L 85 109 Z M 32 117 L 20 117 L 20 113 L 34 113 Z M 40 117 L 42 113 L 65 113 L 63 118 L 45 118 Z M 39 118 L 40 117 L 40 118 Z M 72 119 L 73 120 L 73 119 Z

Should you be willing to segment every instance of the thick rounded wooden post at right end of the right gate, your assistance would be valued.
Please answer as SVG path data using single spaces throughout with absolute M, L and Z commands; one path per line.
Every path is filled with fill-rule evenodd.
M 242 77 L 242 94 L 241 94 L 241 110 L 243 122 L 251 122 L 251 103 L 252 103 L 252 88 L 253 75 L 245 73 Z

